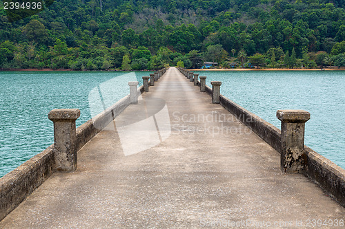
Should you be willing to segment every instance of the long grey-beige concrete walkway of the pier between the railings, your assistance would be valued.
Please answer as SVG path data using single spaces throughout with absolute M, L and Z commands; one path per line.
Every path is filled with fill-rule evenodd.
M 170 67 L 79 151 L 75 173 L 52 175 L 0 228 L 342 228 L 344 217 Z

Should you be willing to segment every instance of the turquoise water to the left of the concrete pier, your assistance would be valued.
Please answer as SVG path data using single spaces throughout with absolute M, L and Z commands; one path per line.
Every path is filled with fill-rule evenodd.
M 114 93 L 107 100 L 111 105 L 129 94 L 128 79 L 142 85 L 141 77 L 150 73 L 0 72 L 0 177 L 54 142 L 49 111 L 78 108 L 79 126 L 92 118 L 88 97 L 93 88 L 113 78 L 123 81 L 113 84 L 112 80 Z

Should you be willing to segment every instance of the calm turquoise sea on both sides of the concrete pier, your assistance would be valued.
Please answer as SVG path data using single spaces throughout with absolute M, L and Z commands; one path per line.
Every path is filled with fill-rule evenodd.
M 91 118 L 90 91 L 111 87 L 116 91 L 111 105 L 129 93 L 129 79 L 141 85 L 150 73 L 135 72 L 133 78 L 125 72 L 0 72 L 0 177 L 52 144 L 50 110 L 79 108 L 79 126 Z M 221 94 L 279 129 L 277 109 L 309 111 L 306 145 L 345 168 L 345 72 L 199 74 L 207 76 L 208 85 L 221 81 Z

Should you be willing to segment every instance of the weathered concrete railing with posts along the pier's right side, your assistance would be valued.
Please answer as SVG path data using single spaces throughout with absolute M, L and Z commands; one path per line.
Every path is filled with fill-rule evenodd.
M 179 68 L 179 71 L 184 76 L 189 74 L 186 69 Z M 206 80 L 204 76 L 199 78 Z M 215 85 L 215 83 L 211 84 Z M 201 81 L 198 85 L 201 87 Z M 205 92 L 212 97 L 218 94 L 207 85 Z M 281 154 L 282 172 L 306 175 L 345 207 L 345 170 L 304 145 L 304 123 L 310 118 L 308 112 L 277 111 L 277 118 L 282 120 L 282 131 L 280 131 L 273 124 L 259 118 L 220 93 L 219 103 Z

